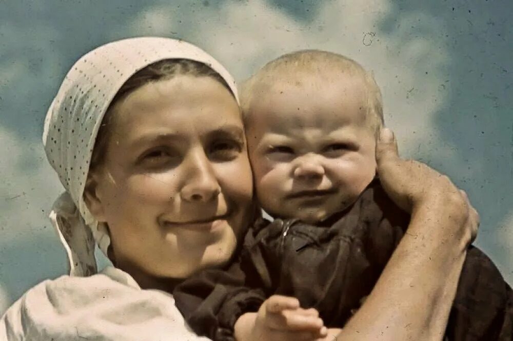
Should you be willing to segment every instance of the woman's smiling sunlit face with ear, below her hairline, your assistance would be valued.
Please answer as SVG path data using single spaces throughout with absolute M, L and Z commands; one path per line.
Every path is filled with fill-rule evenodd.
M 141 282 L 225 264 L 253 211 L 233 96 L 213 78 L 175 76 L 135 90 L 111 114 L 88 204 L 109 226 L 116 265 L 151 286 Z

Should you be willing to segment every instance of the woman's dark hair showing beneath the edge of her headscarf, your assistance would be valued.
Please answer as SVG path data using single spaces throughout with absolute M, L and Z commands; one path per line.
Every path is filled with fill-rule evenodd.
M 145 84 L 171 79 L 177 75 L 212 77 L 223 84 L 223 86 L 233 95 L 226 80 L 221 77 L 219 73 L 215 72 L 212 68 L 202 62 L 190 59 L 164 59 L 148 65 L 134 73 L 112 98 L 96 136 L 89 171 L 93 171 L 104 162 L 105 151 L 110 138 L 109 131 L 113 118 L 112 108 L 114 105 Z

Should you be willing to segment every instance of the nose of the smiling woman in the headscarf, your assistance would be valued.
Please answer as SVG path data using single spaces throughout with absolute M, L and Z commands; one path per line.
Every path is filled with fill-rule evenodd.
M 221 192 L 210 160 L 203 151 L 190 155 L 186 162 L 189 172 L 180 195 L 185 201 L 208 202 Z

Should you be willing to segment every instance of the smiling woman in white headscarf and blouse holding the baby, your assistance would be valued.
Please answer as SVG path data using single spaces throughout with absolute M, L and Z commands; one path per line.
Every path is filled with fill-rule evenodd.
M 254 218 L 243 128 L 232 78 L 186 42 L 126 39 L 78 60 L 43 137 L 66 188 L 50 218 L 70 276 L 30 289 L 0 339 L 200 339 L 167 292 L 226 264 Z M 478 216 L 446 177 L 399 159 L 389 131 L 377 160 L 415 237 L 338 338 L 440 338 Z M 98 274 L 95 244 L 114 264 Z

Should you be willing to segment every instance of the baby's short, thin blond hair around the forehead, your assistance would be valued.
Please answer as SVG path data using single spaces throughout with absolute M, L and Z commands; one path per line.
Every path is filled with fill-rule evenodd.
M 240 91 L 241 108 L 244 117 L 251 114 L 251 103 L 255 93 L 270 89 L 274 82 L 279 82 L 287 75 L 331 74 L 337 76 L 346 73 L 360 76 L 365 84 L 367 97 L 366 119 L 376 131 L 383 126 L 383 99 L 380 88 L 372 73 L 367 72 L 358 62 L 346 56 L 320 50 L 302 50 L 284 54 L 268 62 L 262 69 L 246 80 Z

